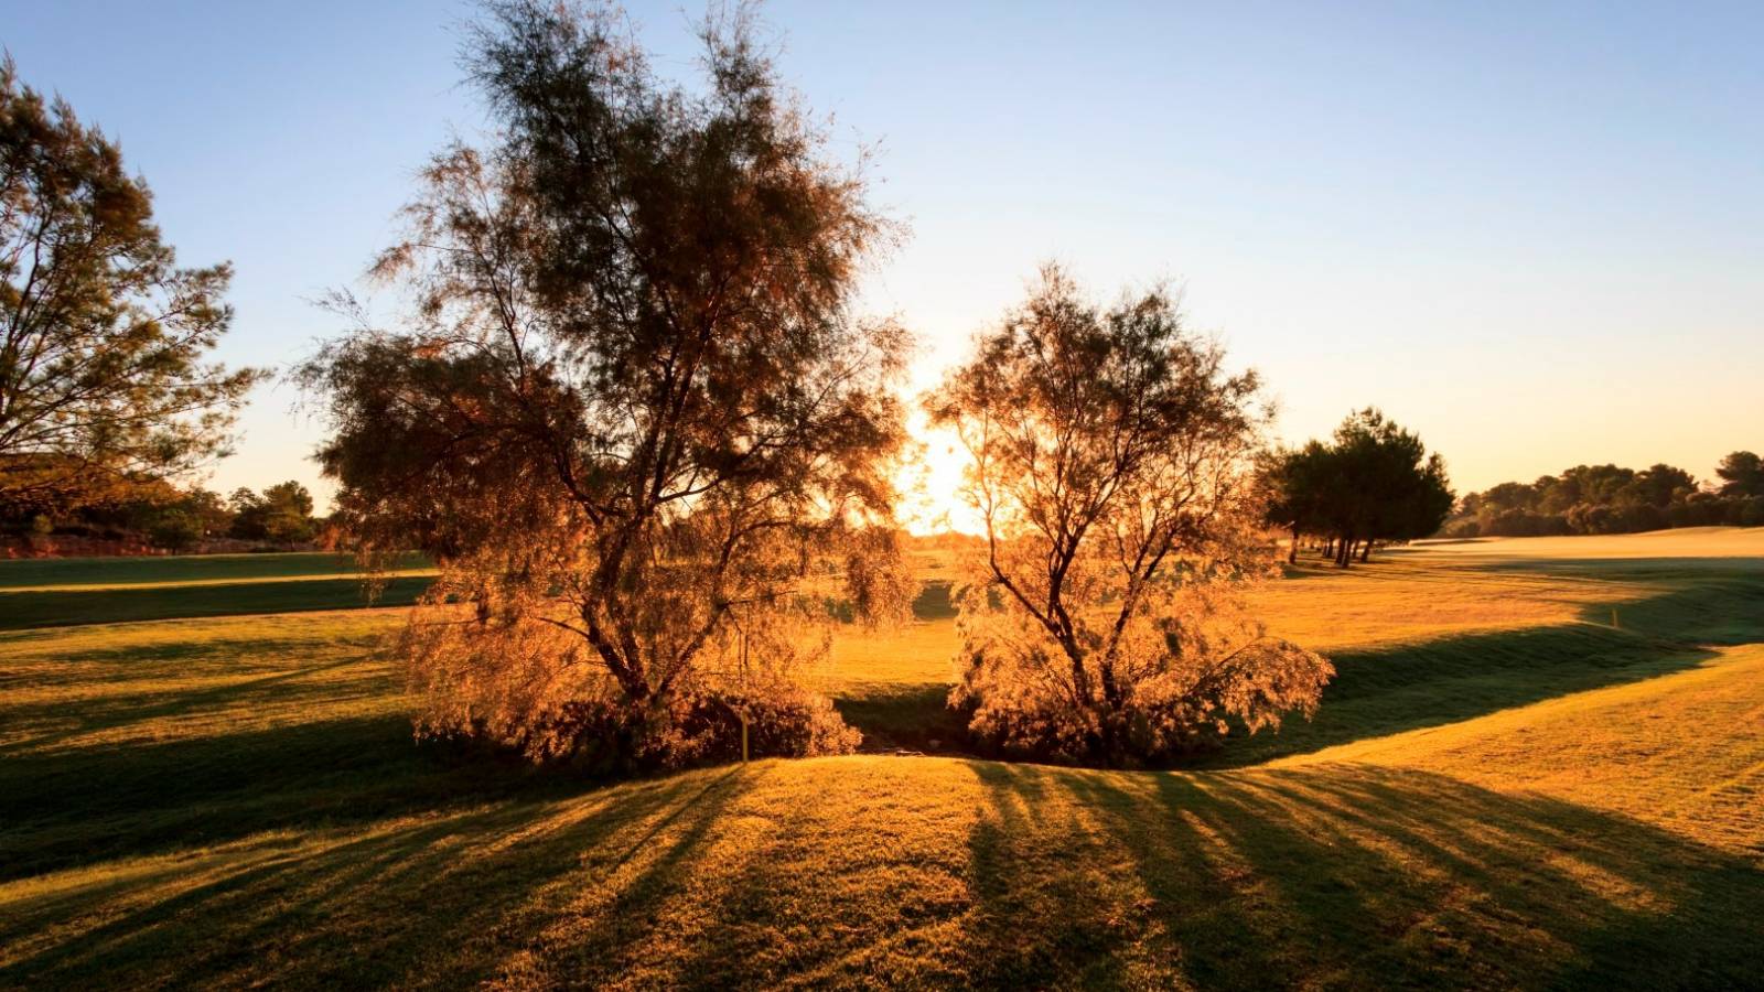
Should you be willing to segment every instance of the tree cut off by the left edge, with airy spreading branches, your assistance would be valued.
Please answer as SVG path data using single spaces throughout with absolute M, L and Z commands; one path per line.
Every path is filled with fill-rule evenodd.
M 116 143 L 0 64 L 0 503 L 93 503 L 226 454 L 259 378 L 205 362 L 229 279 L 178 268 Z

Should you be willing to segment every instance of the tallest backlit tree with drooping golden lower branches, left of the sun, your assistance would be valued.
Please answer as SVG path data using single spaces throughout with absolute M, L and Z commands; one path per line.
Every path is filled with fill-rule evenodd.
M 333 519 L 439 565 L 399 648 L 422 733 L 621 766 L 736 754 L 743 727 L 850 750 L 796 674 L 841 577 L 871 620 L 910 607 L 905 334 L 852 316 L 893 226 L 744 18 L 702 32 L 702 94 L 621 25 L 512 0 L 471 35 L 499 143 L 439 154 L 379 259 L 415 312 L 305 367 Z

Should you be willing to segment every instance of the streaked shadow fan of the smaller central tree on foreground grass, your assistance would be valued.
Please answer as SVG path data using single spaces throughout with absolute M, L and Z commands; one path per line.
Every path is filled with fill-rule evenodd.
M 1725 988 L 1764 872 L 1422 771 L 974 764 L 983 985 Z

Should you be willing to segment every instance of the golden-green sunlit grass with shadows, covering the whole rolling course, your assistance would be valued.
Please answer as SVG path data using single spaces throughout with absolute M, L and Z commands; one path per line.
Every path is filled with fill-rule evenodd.
M 0 987 L 1755 985 L 1764 563 L 1598 540 L 1300 570 L 1319 718 L 1173 773 L 594 785 L 415 745 L 395 609 L 0 634 Z M 820 678 L 949 750 L 919 614 Z

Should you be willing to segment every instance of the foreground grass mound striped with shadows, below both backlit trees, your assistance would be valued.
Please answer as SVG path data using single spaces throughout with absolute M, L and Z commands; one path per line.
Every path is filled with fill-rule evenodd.
M 1760 939 L 1755 863 L 1441 775 L 871 759 L 131 861 L 11 900 L 0 985 L 1718 988 Z

